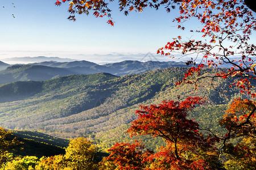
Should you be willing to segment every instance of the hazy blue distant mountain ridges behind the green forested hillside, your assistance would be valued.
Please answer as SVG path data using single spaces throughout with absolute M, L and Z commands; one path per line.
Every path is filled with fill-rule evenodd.
M 4 64 L 3 64 L 4 65 Z M 0 63 L 1 66 L 1 63 Z M 9 67 L 7 67 L 9 66 Z M 15 81 L 40 81 L 73 74 L 110 73 L 117 76 L 141 74 L 155 69 L 167 67 L 187 67 L 185 62 L 159 62 L 159 61 L 122 61 L 98 65 L 89 61 L 56 62 L 44 61 L 28 65 L 5 65 L 6 69 L 0 71 L 0 84 Z

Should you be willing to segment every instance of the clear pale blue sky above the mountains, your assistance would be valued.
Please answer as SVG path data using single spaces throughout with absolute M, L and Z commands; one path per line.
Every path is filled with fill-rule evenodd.
M 0 61 L 46 56 L 108 63 L 141 61 L 147 54 L 152 54 L 154 60 L 170 61 L 156 55 L 156 50 L 178 35 L 191 38 L 191 34 L 180 31 L 172 22 L 177 11 L 167 13 L 164 9 L 146 8 L 125 16 L 113 3 L 112 27 L 106 23 L 107 18 L 94 16 L 76 15 L 76 22 L 69 21 L 68 3 L 55 6 L 55 2 L 1 0 Z M 196 27 L 193 22 L 188 24 Z

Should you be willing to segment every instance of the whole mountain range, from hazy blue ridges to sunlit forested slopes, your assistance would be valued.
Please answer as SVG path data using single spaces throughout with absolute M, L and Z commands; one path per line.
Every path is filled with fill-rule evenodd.
M 135 111 L 139 105 L 201 96 L 206 97 L 207 104 L 189 113 L 190 117 L 204 128 L 224 131 L 218 120 L 230 100 L 244 97 L 236 88 L 226 87 L 235 78 L 214 79 L 210 84 L 208 79 L 202 79 L 197 86 L 200 90 L 191 84 L 175 86 L 187 67 L 185 62 L 174 61 L 122 61 L 104 65 L 89 61 L 43 61 L 27 65 L 0 62 L 0 126 L 15 129 L 16 135 L 28 141 L 63 147 L 67 141 L 60 138 L 85 136 L 101 147 L 109 147 L 115 142 L 131 140 L 126 129 L 137 118 Z M 206 68 L 201 76 L 224 70 Z M 251 84 L 255 86 L 256 82 Z M 147 148 L 153 150 L 163 145 L 158 138 L 135 137 L 138 138 L 143 138 Z

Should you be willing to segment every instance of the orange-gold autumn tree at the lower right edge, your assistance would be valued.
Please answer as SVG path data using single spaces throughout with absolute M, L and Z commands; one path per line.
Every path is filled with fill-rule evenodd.
M 248 99 L 235 99 L 230 104 L 227 114 L 219 121 L 228 133 L 223 138 L 228 168 L 251 169 L 256 165 L 256 103 Z M 242 138 L 236 146 L 226 143 L 230 138 Z M 222 153 L 223 154 L 223 153 Z

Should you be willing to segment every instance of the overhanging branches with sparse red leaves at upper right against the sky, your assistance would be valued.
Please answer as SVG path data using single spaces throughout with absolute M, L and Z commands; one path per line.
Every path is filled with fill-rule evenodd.
M 180 6 L 180 16 L 174 20 L 179 24 L 178 28 L 184 29 L 180 23 L 191 18 L 200 20 L 202 27 L 192 32 L 201 33 L 205 40 L 184 41 L 178 36 L 166 46 L 158 49 L 157 53 L 171 56 L 172 52 L 180 52 L 184 56 L 193 55 L 187 63 L 195 63 L 200 58 L 198 66 L 191 67 L 184 75 L 181 83 L 196 83 L 189 80 L 193 73 L 200 75 L 203 67 L 218 67 L 227 65 L 229 69 L 217 73 L 212 78 L 238 77 L 236 83 L 229 87 L 240 88 L 241 93 L 255 97 L 251 93 L 251 79 L 256 79 L 256 59 L 254 44 L 249 44 L 250 36 L 256 30 L 256 20 L 252 12 L 245 6 L 243 1 L 183 1 Z M 237 56 L 240 59 L 232 59 Z

